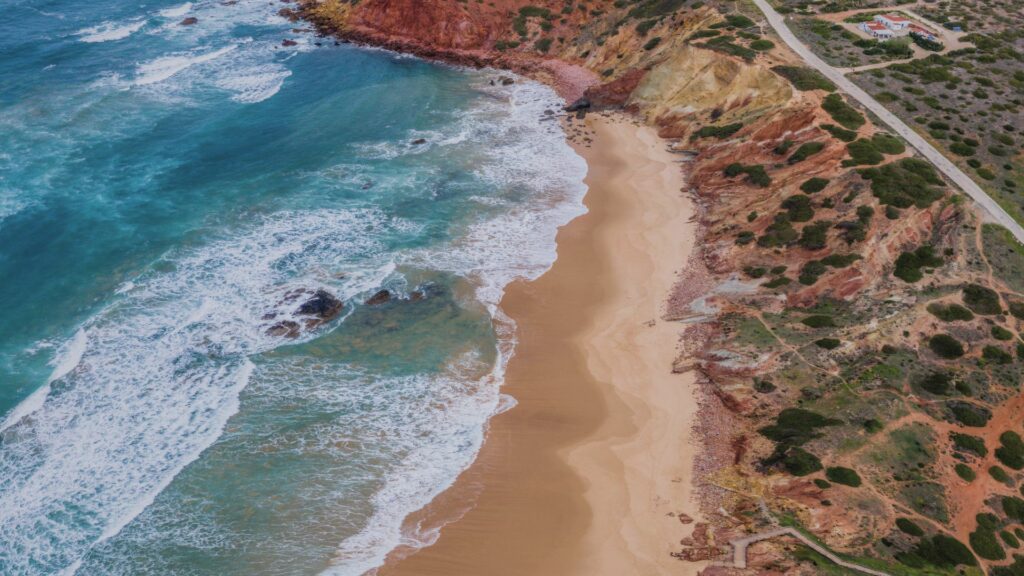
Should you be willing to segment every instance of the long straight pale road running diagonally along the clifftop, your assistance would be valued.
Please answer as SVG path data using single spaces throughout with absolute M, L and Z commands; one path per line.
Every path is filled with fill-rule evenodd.
M 782 38 L 782 40 L 793 48 L 793 51 L 797 52 L 800 57 L 804 58 L 804 61 L 808 64 L 811 68 L 816 69 L 818 72 L 823 74 L 826 78 L 831 80 L 837 86 L 839 86 L 843 91 L 850 94 L 854 99 L 859 101 L 861 106 L 871 111 L 876 116 L 878 116 L 883 122 L 889 125 L 889 127 L 902 136 L 906 141 L 910 142 L 910 146 L 918 149 L 926 159 L 928 159 L 936 168 L 939 169 L 943 174 L 946 175 L 954 184 L 961 188 L 964 192 L 968 194 L 971 198 L 981 205 L 982 209 L 987 212 L 992 221 L 998 222 L 1009 230 L 1014 237 L 1017 238 L 1018 242 L 1024 243 L 1024 228 L 1017 222 L 1001 206 L 998 205 L 994 200 L 991 199 L 985 191 L 981 190 L 971 176 L 964 173 L 963 170 L 956 167 L 955 164 L 949 161 L 948 158 L 942 155 L 941 152 L 935 149 L 932 145 L 928 143 L 928 140 L 921 137 L 918 132 L 914 132 L 909 126 L 903 123 L 902 120 L 896 117 L 893 113 L 889 112 L 886 107 L 879 104 L 878 100 L 871 97 L 870 94 L 862 90 L 859 86 L 848 80 L 842 73 L 826 64 L 824 60 L 819 58 L 814 54 L 807 46 L 805 46 L 790 28 L 785 26 L 785 20 L 782 16 L 775 11 L 774 8 L 768 4 L 767 0 L 754 0 L 758 8 L 764 12 L 765 17 L 768 18 L 768 24 L 775 29 L 775 32 Z

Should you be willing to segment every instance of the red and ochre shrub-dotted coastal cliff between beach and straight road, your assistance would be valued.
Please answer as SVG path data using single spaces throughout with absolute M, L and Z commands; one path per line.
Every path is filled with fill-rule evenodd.
M 666 318 L 682 333 L 675 369 L 705 393 L 706 518 L 673 557 L 724 559 L 729 540 L 782 523 L 887 573 L 1017 573 L 994 534 L 1010 548 L 1024 536 L 1020 247 L 734 10 L 325 0 L 283 13 L 551 83 L 583 113 L 654 126 L 685 160 L 699 234 L 696 257 L 666 262 L 687 271 Z M 705 572 L 817 573 L 815 554 L 783 537 L 746 568 Z

